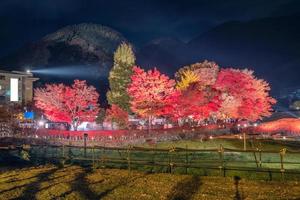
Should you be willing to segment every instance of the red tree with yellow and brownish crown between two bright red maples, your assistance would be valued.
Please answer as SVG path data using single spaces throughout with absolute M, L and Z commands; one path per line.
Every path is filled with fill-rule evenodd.
M 220 107 L 218 92 L 213 88 L 219 66 L 205 60 L 185 66 L 175 74 L 180 95 L 172 98 L 174 105 L 169 109 L 173 119 L 193 119 L 196 121 L 209 118 Z M 168 112 L 167 112 L 168 113 Z

